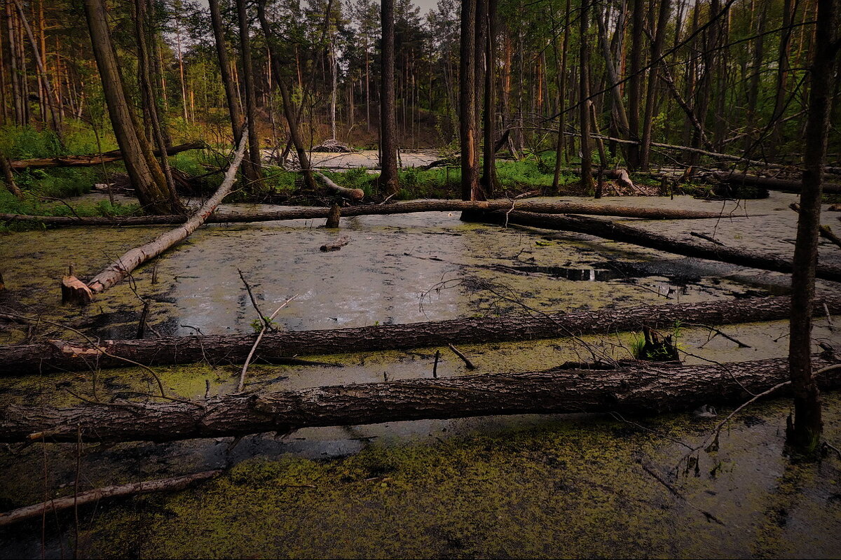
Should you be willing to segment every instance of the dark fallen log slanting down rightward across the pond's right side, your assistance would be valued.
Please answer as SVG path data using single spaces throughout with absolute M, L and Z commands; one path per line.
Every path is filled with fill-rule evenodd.
M 698 259 L 717 260 L 723 263 L 737 264 L 754 269 L 774 270 L 791 274 L 790 258 L 775 254 L 758 253 L 748 249 L 736 249 L 724 245 L 701 245 L 687 243 L 674 237 L 660 233 L 648 232 L 640 228 L 633 228 L 623 223 L 611 222 L 595 217 L 585 216 L 556 216 L 537 214 L 535 212 L 482 212 L 480 214 L 465 213 L 463 219 L 468 221 L 489 221 L 494 223 L 513 223 L 533 228 L 556 229 L 567 232 L 588 233 L 596 237 L 633 243 L 641 247 L 658 249 L 667 253 L 682 254 Z M 841 266 L 836 264 L 818 264 L 817 278 L 823 280 L 841 281 Z

